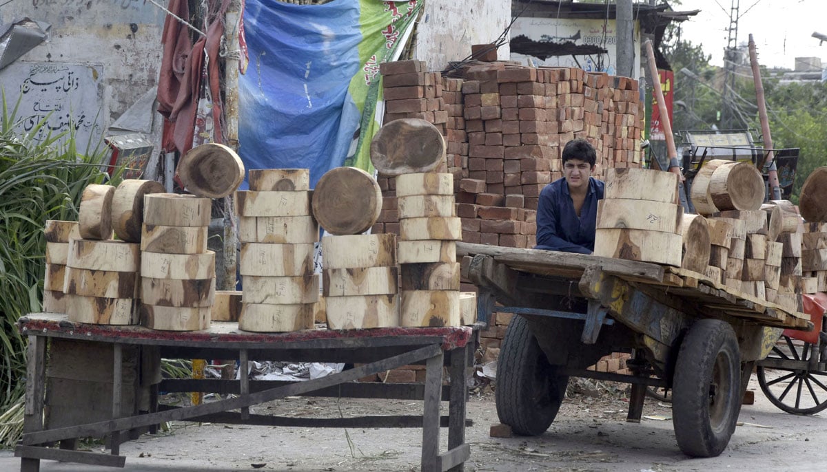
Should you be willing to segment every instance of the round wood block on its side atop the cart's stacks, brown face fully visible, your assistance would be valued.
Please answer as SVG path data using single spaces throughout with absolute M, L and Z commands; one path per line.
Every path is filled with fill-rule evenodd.
M 710 195 L 718 210 L 758 210 L 764 201 L 764 179 L 753 163 L 730 163 L 715 169 Z

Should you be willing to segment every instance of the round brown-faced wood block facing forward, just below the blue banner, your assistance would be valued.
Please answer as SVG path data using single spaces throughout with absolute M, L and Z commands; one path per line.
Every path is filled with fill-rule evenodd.
M 373 226 L 382 210 L 376 179 L 358 168 L 327 171 L 313 191 L 313 216 L 330 234 L 360 234 Z

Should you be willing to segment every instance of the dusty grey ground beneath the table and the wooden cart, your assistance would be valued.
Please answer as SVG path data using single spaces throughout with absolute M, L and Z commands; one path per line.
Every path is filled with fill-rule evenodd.
M 555 470 L 825 470 L 827 412 L 811 417 L 783 413 L 769 404 L 754 380 L 755 404 L 744 405 L 734 437 L 722 455 L 691 459 L 678 450 L 670 404 L 647 399 L 639 424 L 625 421 L 628 390 L 623 385 L 579 380 L 570 388 L 552 427 L 540 437 L 490 437 L 496 422 L 495 397 L 480 389 L 468 402 L 466 428 L 471 444 L 469 471 Z M 251 408 L 282 416 L 348 417 L 362 414 L 417 414 L 422 403 L 296 397 Z M 447 403 L 442 404 L 447 409 Z M 442 429 L 441 451 L 447 448 Z M 125 470 L 419 470 L 418 428 L 246 427 L 173 423 L 170 430 L 122 445 Z M 101 446 L 91 445 L 93 450 Z M 0 454 L 0 470 L 19 470 L 19 460 Z M 89 470 L 87 465 L 43 461 L 45 472 Z M 103 469 L 101 469 L 103 470 Z

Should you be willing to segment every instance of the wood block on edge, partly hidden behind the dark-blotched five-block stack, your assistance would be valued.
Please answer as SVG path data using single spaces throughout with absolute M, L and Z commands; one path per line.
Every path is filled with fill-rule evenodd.
M 127 179 L 121 182 L 112 196 L 112 229 L 115 235 L 129 243 L 139 243 L 141 224 L 144 222 L 144 196 L 164 191 L 164 186 L 153 180 Z

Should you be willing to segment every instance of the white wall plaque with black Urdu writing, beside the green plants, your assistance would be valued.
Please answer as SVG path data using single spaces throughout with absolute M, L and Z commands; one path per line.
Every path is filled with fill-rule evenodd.
M 26 135 L 36 130 L 36 140 L 71 131 L 80 153 L 103 145 L 108 113 L 101 77 L 100 66 L 83 64 L 17 62 L 0 70 L 9 111 L 20 99 L 15 129 Z

